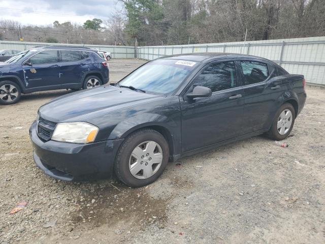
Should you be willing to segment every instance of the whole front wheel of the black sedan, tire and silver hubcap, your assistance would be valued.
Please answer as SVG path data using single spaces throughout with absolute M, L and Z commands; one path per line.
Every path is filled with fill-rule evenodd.
M 127 136 L 118 149 L 115 174 L 129 187 L 143 187 L 164 172 L 168 158 L 169 146 L 163 135 L 152 129 L 138 130 Z

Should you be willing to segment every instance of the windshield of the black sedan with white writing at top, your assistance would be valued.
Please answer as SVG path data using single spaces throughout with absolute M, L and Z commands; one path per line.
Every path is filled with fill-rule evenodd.
M 198 62 L 156 59 L 141 66 L 118 84 L 133 86 L 146 92 L 168 94 L 173 92 L 198 65 Z

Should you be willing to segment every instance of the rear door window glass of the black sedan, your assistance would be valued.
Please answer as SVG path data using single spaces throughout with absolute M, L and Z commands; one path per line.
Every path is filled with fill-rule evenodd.
M 253 61 L 241 61 L 240 65 L 244 74 L 243 85 L 262 82 L 269 76 L 267 64 Z

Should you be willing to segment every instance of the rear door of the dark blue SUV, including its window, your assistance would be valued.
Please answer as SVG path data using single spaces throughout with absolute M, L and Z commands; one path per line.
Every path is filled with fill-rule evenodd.
M 60 83 L 62 88 L 81 87 L 85 74 L 89 71 L 88 58 L 89 53 L 85 51 L 60 50 Z

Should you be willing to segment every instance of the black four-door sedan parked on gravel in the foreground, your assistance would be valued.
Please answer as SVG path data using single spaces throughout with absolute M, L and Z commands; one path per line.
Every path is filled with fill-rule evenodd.
M 168 161 L 267 133 L 286 138 L 305 79 L 268 59 L 226 53 L 165 56 L 113 85 L 54 99 L 30 127 L 34 160 L 62 180 L 110 177 L 141 187 Z

